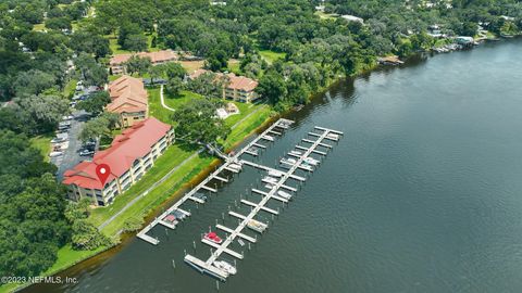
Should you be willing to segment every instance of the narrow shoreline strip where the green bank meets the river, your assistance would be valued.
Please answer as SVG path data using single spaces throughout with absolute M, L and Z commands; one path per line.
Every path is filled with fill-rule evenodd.
M 519 37 L 515 37 L 513 39 L 518 39 Z M 511 39 L 507 39 L 507 40 L 511 40 Z M 470 49 L 470 50 L 473 50 Z M 434 52 L 424 52 L 424 53 L 428 53 L 430 56 L 433 56 L 433 55 L 436 55 L 436 53 Z M 422 54 L 422 53 L 421 53 Z M 413 60 L 415 56 L 419 56 L 419 53 L 415 53 L 411 56 L 409 56 L 407 60 L 406 60 L 406 63 L 403 66 L 380 66 L 378 64 L 375 64 L 373 66 L 370 66 L 370 68 L 368 69 L 364 69 L 360 73 L 357 73 L 352 76 L 343 76 L 343 77 L 338 77 L 338 78 L 335 78 L 333 79 L 331 82 L 328 82 L 328 85 L 324 88 L 322 88 L 321 90 L 319 90 L 318 92 L 314 92 L 312 94 L 310 94 L 310 100 L 309 100 L 309 103 L 314 100 L 314 99 L 318 99 L 319 95 L 321 95 L 322 93 L 324 93 L 325 91 L 327 91 L 332 86 L 334 86 L 335 84 L 344 80 L 344 79 L 352 79 L 352 78 L 356 78 L 358 76 L 364 76 L 364 75 L 368 75 L 368 74 L 371 74 L 373 73 L 375 69 L 378 69 L 378 68 L 394 68 L 394 67 L 398 67 L 398 68 L 402 68 L 405 66 L 408 66 L 410 65 L 410 60 Z M 307 104 L 309 104 L 307 103 Z M 232 146 L 229 146 L 227 149 L 227 151 L 231 151 L 231 150 L 234 150 L 236 149 L 238 145 L 240 145 L 241 143 L 244 143 L 245 141 L 247 141 L 252 135 L 257 133 L 258 131 L 262 130 L 263 128 L 265 128 L 268 125 L 270 125 L 276 117 L 279 117 L 279 116 L 287 116 L 287 115 L 290 115 L 293 113 L 297 113 L 297 111 L 293 110 L 291 107 L 287 111 L 284 111 L 282 113 L 278 113 L 277 115 L 269 115 L 268 118 L 265 118 L 259 126 L 254 127 L 251 131 L 249 131 L 245 137 L 243 137 L 238 142 L 236 143 L 233 143 Z M 214 158 L 211 161 L 210 164 L 208 164 L 206 167 L 203 167 L 201 170 L 199 170 L 196 175 L 192 175 L 190 176 L 190 178 L 188 180 L 185 180 L 185 179 L 182 179 L 179 181 L 182 182 L 176 182 L 175 183 L 175 191 L 173 193 L 171 193 L 166 199 L 163 199 L 161 204 L 150 208 L 148 212 L 147 212 L 147 216 L 145 216 L 145 224 L 144 224 L 144 227 L 147 222 L 150 221 L 151 218 L 154 217 L 154 215 L 158 214 L 158 212 L 161 212 L 161 209 L 165 206 L 165 205 L 170 205 L 176 201 L 179 200 L 181 198 L 181 194 L 183 193 L 183 191 L 187 188 L 189 188 L 189 184 L 190 183 L 197 183 L 197 182 L 200 182 L 201 180 L 204 179 L 206 176 L 208 176 L 209 173 L 212 171 L 212 168 L 216 165 L 219 165 L 221 163 L 221 160 L 220 158 Z M 197 168 L 197 166 L 195 167 L 195 169 Z M 190 175 L 191 173 L 189 173 L 188 175 Z M 112 246 L 108 246 L 108 247 L 103 247 L 101 251 L 92 251 L 92 254 L 89 255 L 89 256 L 86 256 L 85 258 L 78 258 L 76 262 L 74 262 L 72 265 L 70 266 L 66 266 L 64 268 L 60 268 L 55 271 L 52 271 L 52 272 L 49 272 L 49 273 L 42 273 L 41 276 L 57 276 L 57 275 L 61 275 L 61 273 L 64 273 L 65 271 L 70 270 L 70 271 L 80 271 L 83 270 L 83 266 L 82 264 L 86 265 L 86 264 L 89 264 L 90 265 L 97 265 L 97 264 L 100 264 L 101 262 L 104 262 L 104 260 L 108 260 L 109 258 L 113 257 L 117 252 L 120 252 L 120 250 L 122 250 L 123 247 L 125 247 L 125 245 L 127 245 L 129 243 L 129 241 L 136 235 L 136 231 L 135 232 L 126 232 L 126 233 L 121 233 L 121 239 L 120 239 L 120 242 L 119 243 L 115 243 L 114 245 Z M 26 289 L 28 286 L 33 285 L 32 283 L 26 283 L 26 284 L 20 284 L 20 285 L 10 285 L 10 284 L 5 284 L 5 285 L 2 285 L 0 286 L 0 292 L 14 292 L 14 291 L 20 291 L 20 290 L 23 290 L 23 289 Z

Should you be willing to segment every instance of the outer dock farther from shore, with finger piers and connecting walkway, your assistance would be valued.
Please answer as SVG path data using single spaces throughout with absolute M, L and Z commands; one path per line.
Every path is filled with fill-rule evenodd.
M 283 127 L 284 128 L 284 127 Z M 185 257 L 185 262 L 189 263 L 191 266 L 197 266 L 199 267 L 198 269 L 199 270 L 202 270 L 202 271 L 208 271 L 208 272 L 212 272 L 212 273 L 215 273 L 216 271 L 216 267 L 213 266 L 213 263 L 221 256 L 221 254 L 223 253 L 226 253 L 226 254 L 229 254 L 236 258 L 239 258 L 239 259 L 243 259 L 244 258 L 244 255 L 243 254 L 238 254 L 236 252 L 233 252 L 228 249 L 228 246 L 234 242 L 234 240 L 239 237 L 239 238 L 245 238 L 245 234 L 241 232 L 245 227 L 248 227 L 249 224 L 251 224 L 252 221 L 258 221 L 254 219 L 254 217 L 258 215 L 258 213 L 260 211 L 265 211 L 268 213 L 271 213 L 273 215 L 278 215 L 279 212 L 278 211 L 274 211 L 272 208 L 269 208 L 266 206 L 266 203 L 270 201 L 270 200 L 277 200 L 277 201 L 282 201 L 282 202 L 288 202 L 288 200 L 286 199 L 283 199 L 282 196 L 278 195 L 278 191 L 281 188 L 286 188 L 288 189 L 289 187 L 285 186 L 285 182 L 288 180 L 288 179 L 297 179 L 299 181 L 304 181 L 307 180 L 307 178 L 304 177 L 301 177 L 301 176 L 297 176 L 295 175 L 294 173 L 300 168 L 306 160 L 310 156 L 310 154 L 312 152 L 315 152 L 315 153 L 320 153 L 320 154 L 326 154 L 325 152 L 320 152 L 320 151 L 316 151 L 315 149 L 318 146 L 323 146 L 323 148 L 327 148 L 327 149 L 331 149 L 328 146 L 332 146 L 330 144 L 327 144 L 328 146 L 325 146 L 326 144 L 323 143 L 323 140 L 326 139 L 326 137 L 332 137 L 330 136 L 331 133 L 335 133 L 335 135 L 341 135 L 340 131 L 336 131 L 336 130 L 332 130 L 332 129 L 327 129 L 327 128 L 315 128 L 315 129 L 319 129 L 319 130 L 322 130 L 323 132 L 322 133 L 318 133 L 319 136 L 316 137 L 316 140 L 303 140 L 308 143 L 311 143 L 311 146 L 310 148 L 304 148 L 304 146 L 301 146 L 302 149 L 301 150 L 304 150 L 303 153 L 301 153 L 301 155 L 298 155 L 297 156 L 297 160 L 294 164 L 288 164 L 289 165 L 289 168 L 288 170 L 285 173 L 285 171 L 282 171 L 282 170 L 277 170 L 278 173 L 283 174 L 281 176 L 281 178 L 276 179 L 277 181 L 273 183 L 273 188 L 270 189 L 270 191 L 261 191 L 261 190 L 258 190 L 258 189 L 252 189 L 252 192 L 256 192 L 258 194 L 261 194 L 262 195 L 262 199 L 259 203 L 253 203 L 253 202 L 250 202 L 250 201 L 247 201 L 247 200 L 243 200 L 241 199 L 241 203 L 243 204 L 246 204 L 250 207 L 252 207 L 252 209 L 250 211 L 250 213 L 248 215 L 241 215 L 239 213 L 236 213 L 236 212 L 233 212 L 233 211 L 229 211 L 228 214 L 231 216 L 234 216 L 234 217 L 237 217 L 239 219 L 239 225 L 235 228 L 235 229 L 232 229 L 232 228 L 228 228 L 228 227 L 224 227 L 224 226 L 221 226 L 221 225 L 217 225 L 216 227 L 219 229 L 222 229 L 226 232 L 228 232 L 229 234 L 226 237 L 226 239 L 221 243 L 221 244 L 216 244 L 216 243 L 207 243 L 209 245 L 212 245 L 213 247 L 215 247 L 216 250 L 214 252 L 212 252 L 211 256 L 207 259 L 207 260 L 201 260 L 201 259 L 198 259 L 191 255 L 186 255 Z M 250 145 L 249 145 L 250 146 Z M 297 148 L 297 146 L 296 146 Z M 276 170 L 274 168 L 271 168 L 271 167 L 268 167 L 268 166 L 264 166 L 264 165 L 261 165 L 261 164 L 257 164 L 257 163 L 252 163 L 252 162 L 249 162 L 249 161 L 246 161 L 246 160 L 241 160 L 240 163 L 243 165 L 247 165 L 247 166 L 251 166 L 251 167 L 254 167 L 254 168 L 259 168 L 259 169 L 263 169 L 263 170 L 268 170 L 268 171 L 271 171 L 271 170 Z M 258 221 L 259 222 L 259 221 Z M 248 240 L 248 239 L 247 239 Z M 251 240 L 251 239 L 250 239 Z M 240 256 L 240 257 L 239 257 Z M 197 259 L 196 262 L 192 262 L 194 259 Z M 225 277 L 225 275 L 227 275 L 227 272 L 225 271 L 221 271 L 220 269 L 217 269 L 217 273 L 220 275 L 220 278 L 223 280 L 223 279 L 226 279 L 227 277 Z

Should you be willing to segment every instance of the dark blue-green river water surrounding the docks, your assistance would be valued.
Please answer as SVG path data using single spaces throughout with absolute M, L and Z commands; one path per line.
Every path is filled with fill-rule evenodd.
M 245 259 L 220 292 L 522 292 L 521 113 L 520 39 L 333 86 L 288 115 L 296 124 L 259 162 L 275 166 L 315 125 L 344 138 L 288 207 L 271 204 L 281 216 L 261 215 L 270 229 L 251 251 L 233 246 Z M 133 238 L 61 275 L 78 284 L 26 291 L 215 292 L 184 251 L 208 256 L 200 233 L 261 177 L 247 169 L 187 205 L 178 229 L 152 231 L 158 246 Z

